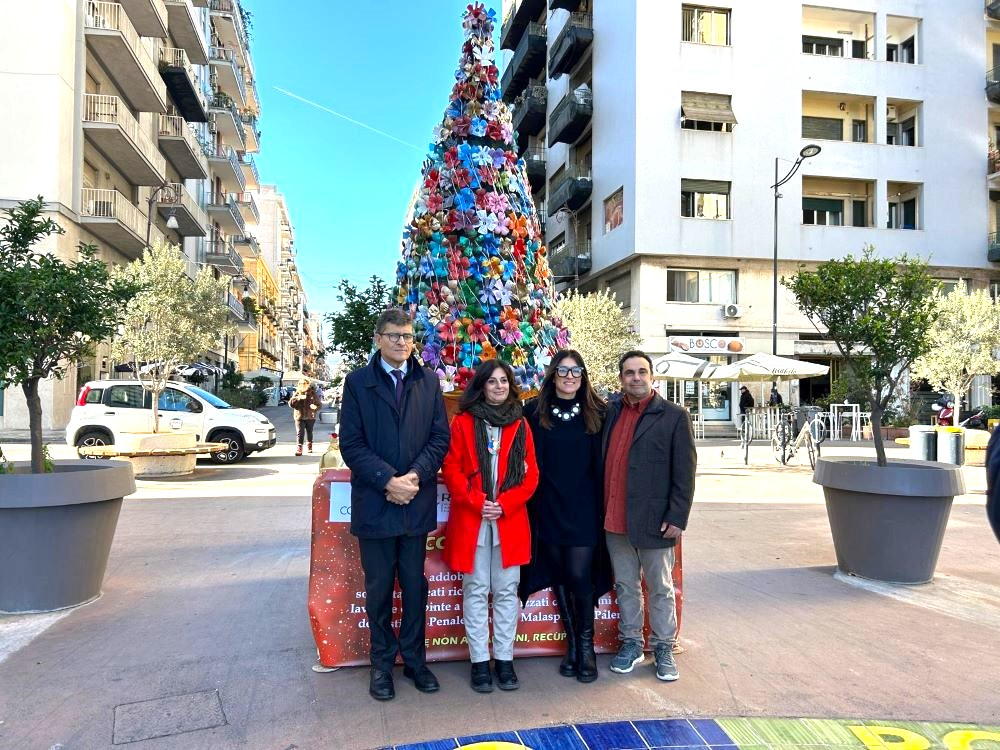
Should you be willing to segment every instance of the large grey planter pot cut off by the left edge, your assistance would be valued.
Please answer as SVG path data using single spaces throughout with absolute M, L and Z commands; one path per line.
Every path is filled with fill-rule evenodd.
M 51 474 L 18 462 L 0 475 L 0 612 L 48 612 L 101 595 L 122 499 L 124 461 L 56 461 Z M 22 473 L 25 472 L 25 473 Z

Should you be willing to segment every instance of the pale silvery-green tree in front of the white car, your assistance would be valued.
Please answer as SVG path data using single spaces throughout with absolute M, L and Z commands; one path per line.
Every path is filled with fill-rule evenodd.
M 135 364 L 139 381 L 156 404 L 178 365 L 197 359 L 232 332 L 229 305 L 223 301 L 229 282 L 216 279 L 208 268 L 192 281 L 187 259 L 176 245 L 147 248 L 139 260 L 116 268 L 113 275 L 142 291 L 128 303 L 112 353 Z M 145 373 L 140 362 L 147 363 Z M 158 432 L 159 412 L 154 409 L 153 415 L 153 432 Z

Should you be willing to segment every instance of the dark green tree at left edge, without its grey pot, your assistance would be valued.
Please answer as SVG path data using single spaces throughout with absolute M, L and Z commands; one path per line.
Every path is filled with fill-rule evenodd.
M 93 245 L 81 243 L 73 260 L 36 250 L 64 234 L 44 211 L 41 196 L 23 201 L 3 212 L 0 227 L 0 380 L 20 385 L 28 403 L 36 474 L 44 469 L 39 381 L 63 377 L 94 342 L 110 338 L 141 289 L 113 277 Z

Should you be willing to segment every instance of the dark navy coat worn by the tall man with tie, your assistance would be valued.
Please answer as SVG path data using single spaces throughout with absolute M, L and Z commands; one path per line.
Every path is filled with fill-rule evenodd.
M 351 470 L 351 533 L 362 539 L 419 536 L 437 526 L 437 472 L 451 432 L 437 375 L 410 356 L 403 397 L 376 352 L 344 380 L 340 453 Z M 409 505 L 385 498 L 392 477 L 415 471 L 420 490 Z

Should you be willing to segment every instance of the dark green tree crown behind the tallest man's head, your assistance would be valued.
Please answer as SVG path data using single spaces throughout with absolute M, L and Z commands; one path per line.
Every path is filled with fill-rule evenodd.
M 326 316 L 331 341 L 327 350 L 342 355 L 347 366 L 356 369 L 368 363 L 375 323 L 382 311 L 391 306 L 392 289 L 378 276 L 372 276 L 363 289 L 342 279 L 337 289 L 341 309 Z

